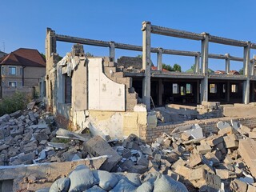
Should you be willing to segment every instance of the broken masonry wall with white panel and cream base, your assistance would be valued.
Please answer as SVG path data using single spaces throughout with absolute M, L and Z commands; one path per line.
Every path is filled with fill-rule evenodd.
M 125 78 L 111 58 L 86 58 L 82 46 L 75 45 L 56 62 L 57 54 L 47 52 L 54 47 L 49 42 L 47 36 L 46 104 L 55 115 L 80 128 L 90 123 L 112 138 L 140 136 L 140 130 L 156 126 L 156 115 L 138 105 L 131 78 Z

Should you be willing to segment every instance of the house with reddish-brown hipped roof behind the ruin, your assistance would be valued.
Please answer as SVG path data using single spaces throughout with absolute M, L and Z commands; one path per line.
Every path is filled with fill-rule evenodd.
M 20 48 L 0 58 L 1 86 L 33 87 L 46 74 L 45 58 L 34 49 Z

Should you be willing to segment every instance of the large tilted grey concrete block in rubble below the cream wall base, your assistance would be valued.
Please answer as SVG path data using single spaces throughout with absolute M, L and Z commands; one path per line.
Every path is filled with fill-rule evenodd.
M 94 155 L 102 156 L 102 155 L 110 155 L 110 158 L 104 162 L 104 164 L 101 166 L 101 170 L 107 170 L 110 171 L 114 166 L 117 165 L 117 163 L 121 160 L 121 156 L 114 150 L 112 147 L 104 141 L 103 138 L 100 136 L 95 136 L 94 138 L 91 138 L 88 142 L 85 143 L 85 150 Z M 111 157 L 112 156 L 112 157 Z

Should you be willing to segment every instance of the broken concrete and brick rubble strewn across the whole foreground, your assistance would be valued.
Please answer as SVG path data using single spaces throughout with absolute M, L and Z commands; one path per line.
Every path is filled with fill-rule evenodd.
M 158 173 L 154 178 L 168 176 L 168 181 L 182 182 L 190 191 L 255 191 L 256 129 L 234 121 L 216 126 L 218 133 L 207 135 L 198 125 L 181 126 L 151 145 L 134 134 L 122 142 L 106 141 L 99 135 L 91 138 L 57 129 L 54 117 L 32 102 L 25 111 L 0 117 L 0 163 L 26 165 L 107 155 L 99 170 L 137 174 L 142 184 L 143 177 Z

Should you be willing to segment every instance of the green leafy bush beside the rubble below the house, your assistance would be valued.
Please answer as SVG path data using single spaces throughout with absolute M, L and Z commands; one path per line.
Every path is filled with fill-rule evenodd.
M 30 102 L 30 98 L 20 92 L 16 92 L 9 98 L 2 98 L 2 101 L 0 101 L 0 116 L 23 110 L 28 102 Z

